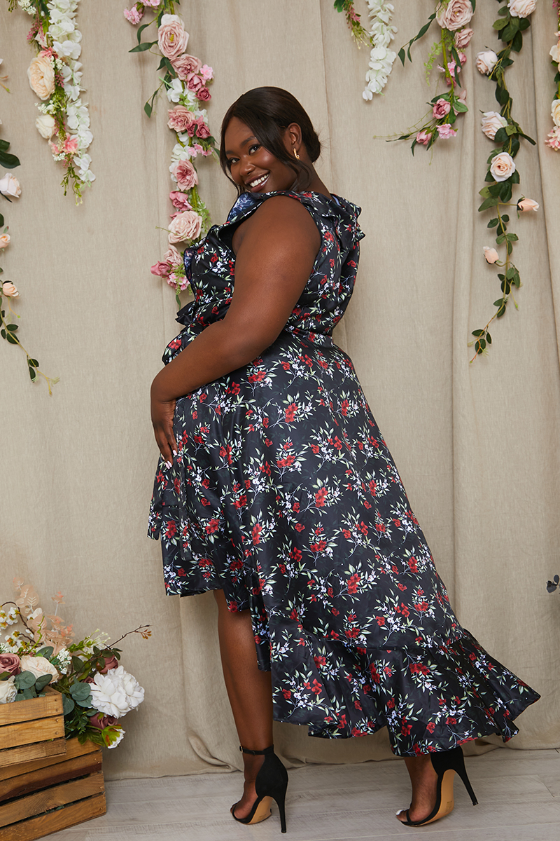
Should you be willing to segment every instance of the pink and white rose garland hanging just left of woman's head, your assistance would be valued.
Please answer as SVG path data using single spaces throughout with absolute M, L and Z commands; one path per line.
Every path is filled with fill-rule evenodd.
M 157 45 L 161 56 L 158 70 L 165 74 L 144 110 L 150 117 L 154 100 L 160 88 L 165 87 L 167 99 L 173 105 L 168 111 L 167 125 L 176 135 L 170 164 L 174 184 L 170 200 L 175 212 L 171 214 L 167 229 L 169 248 L 150 271 L 175 288 L 177 306 L 181 307 L 179 293 L 189 288 L 192 255 L 210 227 L 210 214 L 198 193 L 198 174 L 193 161 L 198 155 L 217 156 L 216 141 L 208 128 L 207 111 L 203 107 L 212 98 L 208 85 L 212 82 L 213 71 L 212 67 L 203 65 L 200 59 L 186 52 L 189 34 L 181 18 L 173 13 L 174 3 L 170 0 L 134 3 L 132 8 L 124 10 L 124 16 L 131 24 L 139 24 L 148 9 L 154 12 L 154 19 L 139 27 L 138 46 L 130 52 L 144 52 Z M 158 27 L 157 40 L 142 42 L 142 32 L 154 21 Z

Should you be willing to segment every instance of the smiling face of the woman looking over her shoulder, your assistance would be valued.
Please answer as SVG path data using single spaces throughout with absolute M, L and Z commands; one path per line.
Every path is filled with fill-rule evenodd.
M 284 143 L 290 153 L 290 129 L 285 130 Z M 289 190 L 296 181 L 293 169 L 286 167 L 260 145 L 249 126 L 237 117 L 232 117 L 228 123 L 224 145 L 231 177 L 243 192 L 274 193 L 276 190 Z

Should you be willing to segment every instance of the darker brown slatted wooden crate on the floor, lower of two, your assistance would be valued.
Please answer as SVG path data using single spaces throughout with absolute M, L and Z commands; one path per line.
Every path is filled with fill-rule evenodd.
M 0 768 L 0 841 L 33 841 L 104 815 L 101 748 L 77 738 L 63 756 Z

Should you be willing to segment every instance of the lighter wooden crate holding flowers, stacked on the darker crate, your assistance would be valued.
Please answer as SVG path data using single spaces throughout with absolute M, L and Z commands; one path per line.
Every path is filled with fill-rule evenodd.
M 43 697 L 0 706 L 0 769 L 65 749 L 60 692 L 46 686 Z

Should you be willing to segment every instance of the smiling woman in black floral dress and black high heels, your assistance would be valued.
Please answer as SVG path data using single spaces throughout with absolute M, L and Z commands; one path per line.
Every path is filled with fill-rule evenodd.
M 412 782 L 397 817 L 417 826 L 453 808 L 453 770 L 468 785 L 460 743 L 510 738 L 538 696 L 458 624 L 332 343 L 363 234 L 359 208 L 318 177 L 319 152 L 279 88 L 243 94 L 223 119 L 222 168 L 239 198 L 196 251 L 195 300 L 152 385 L 149 534 L 169 593 L 217 600 L 245 770 L 233 817 L 263 820 L 272 796 L 285 831 L 274 717 L 327 738 L 388 726 Z

